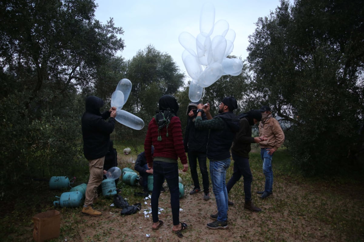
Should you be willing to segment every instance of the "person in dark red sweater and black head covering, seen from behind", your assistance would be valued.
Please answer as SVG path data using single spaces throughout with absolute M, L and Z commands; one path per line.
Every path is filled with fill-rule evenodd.
M 144 141 L 148 167 L 153 168 L 152 230 L 157 230 L 163 225 L 163 221 L 158 217 L 158 202 L 161 186 L 166 179 L 171 194 L 172 230 L 182 237 L 181 231 L 187 228 L 187 224 L 179 221 L 178 158 L 183 164 L 183 172 L 187 171 L 188 164 L 183 147 L 181 120 L 177 116 L 179 106 L 177 100 L 171 95 L 163 95 L 159 99 L 158 106 L 159 111 L 149 122 Z M 153 156 L 152 145 L 154 145 Z

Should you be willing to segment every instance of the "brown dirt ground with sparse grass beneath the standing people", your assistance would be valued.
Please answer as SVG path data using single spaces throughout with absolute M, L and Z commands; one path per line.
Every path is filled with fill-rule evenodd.
M 119 167 L 123 168 L 136 157 L 123 156 L 119 158 Z M 189 173 L 190 171 L 188 171 Z M 254 174 L 254 173 L 253 173 Z M 242 179 L 241 179 L 242 180 Z M 242 186 L 242 181 L 239 184 Z M 164 185 L 166 187 L 166 183 Z M 120 216 L 120 209 L 104 211 L 101 217 L 87 217 L 81 214 L 74 219 L 83 226 L 79 228 L 79 238 L 67 241 L 347 241 L 345 234 L 336 230 L 335 216 L 339 208 L 331 208 L 330 193 L 327 187 L 317 187 L 296 184 L 286 179 L 275 180 L 274 194 L 266 200 L 261 200 L 256 194 L 258 188 L 264 186 L 264 180 L 253 181 L 252 196 L 255 205 L 262 211 L 259 213 L 244 210 L 244 197 L 233 195 L 234 206 L 229 206 L 227 230 L 207 229 L 206 224 L 212 220 L 210 214 L 216 213 L 215 198 L 210 185 L 210 200 L 203 200 L 203 193 L 190 195 L 191 184 L 185 185 L 185 196 L 180 200 L 180 221 L 188 227 L 182 232 L 183 238 L 177 237 L 172 231 L 172 215 L 170 209 L 170 194 L 168 189 L 161 193 L 159 207 L 162 212 L 159 219 L 164 225 L 158 230 L 152 230 L 151 213 L 146 217 L 144 209 L 150 208 L 150 200 L 140 199 L 142 209 L 133 215 Z M 322 189 L 322 190 L 321 190 Z M 348 196 L 351 188 L 336 188 L 336 192 Z M 350 195 L 349 194 L 349 195 Z M 327 196 L 327 198 L 325 198 Z M 349 197 L 350 198 L 350 197 Z M 355 209 L 357 218 L 363 221 L 363 196 L 352 196 L 353 204 L 342 201 L 346 209 Z M 229 195 L 230 200 L 230 195 Z M 332 201 L 338 203 L 336 201 Z M 358 207 L 359 204 L 359 207 Z M 98 206 L 96 206 L 98 209 Z M 335 209 L 335 211 L 333 211 Z M 339 209 L 339 210 L 338 210 Z M 320 215 L 321 213 L 322 216 Z M 361 214 L 361 215 L 359 215 Z M 348 214 L 348 216 L 355 216 Z M 331 220 L 331 217 L 333 221 Z M 327 218 L 327 219 L 326 219 Z M 327 221 L 325 221 L 327 220 Z M 363 224 L 363 222 L 360 222 Z M 362 234 L 363 235 L 363 234 Z M 362 235 L 358 235 L 359 237 Z M 363 237 L 362 237 L 363 238 Z M 64 241 L 64 238 L 62 238 Z

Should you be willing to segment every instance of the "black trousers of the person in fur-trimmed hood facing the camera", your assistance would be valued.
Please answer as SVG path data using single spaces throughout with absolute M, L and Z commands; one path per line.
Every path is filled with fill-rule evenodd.
M 210 182 L 209 182 L 209 173 L 207 172 L 207 166 L 206 166 L 206 153 L 189 151 L 187 155 L 190 164 L 191 176 L 194 188 L 200 188 L 200 183 L 198 181 L 198 175 L 197 175 L 197 160 L 198 160 L 198 165 L 202 175 L 203 192 L 208 193 Z

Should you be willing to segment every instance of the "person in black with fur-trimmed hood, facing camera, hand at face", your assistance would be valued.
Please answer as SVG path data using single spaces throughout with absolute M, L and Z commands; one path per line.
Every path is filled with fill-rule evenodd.
M 188 161 L 190 164 L 191 176 L 193 180 L 193 189 L 190 194 L 195 194 L 201 191 L 200 184 L 197 175 L 197 160 L 202 176 L 203 185 L 203 200 L 209 200 L 209 173 L 206 166 L 206 149 L 207 139 L 209 139 L 209 130 L 197 130 L 195 128 L 195 119 L 197 116 L 197 105 L 200 102 L 191 102 L 187 106 L 187 126 L 185 132 L 185 139 L 183 139 L 183 145 L 185 145 L 185 152 L 188 155 Z M 202 119 L 207 120 L 206 114 L 202 114 Z

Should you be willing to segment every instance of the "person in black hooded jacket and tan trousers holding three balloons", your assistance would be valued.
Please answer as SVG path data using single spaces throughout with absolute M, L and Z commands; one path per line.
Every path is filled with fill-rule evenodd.
M 82 115 L 81 120 L 83 154 L 89 162 L 90 170 L 82 213 L 90 216 L 102 214 L 93 209 L 91 205 L 97 200 L 96 190 L 102 182 L 105 155 L 110 147 L 110 134 L 115 127 L 116 108 L 112 107 L 101 114 L 102 106 L 104 106 L 102 99 L 94 96 L 87 97 L 86 112 Z M 106 119 L 108 122 L 105 122 Z

